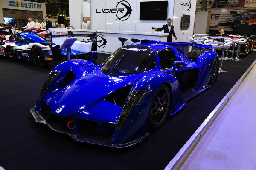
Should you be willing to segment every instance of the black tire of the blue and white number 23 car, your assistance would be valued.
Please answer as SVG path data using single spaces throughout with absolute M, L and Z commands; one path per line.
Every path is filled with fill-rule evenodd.
M 35 66 L 41 68 L 44 66 L 44 53 L 43 50 L 35 46 L 32 48 L 31 59 Z

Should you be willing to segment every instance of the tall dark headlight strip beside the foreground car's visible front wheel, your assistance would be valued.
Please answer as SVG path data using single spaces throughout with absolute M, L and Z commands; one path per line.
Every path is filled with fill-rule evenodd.
M 127 121 L 128 116 L 130 115 L 132 109 L 134 108 L 135 105 L 139 105 L 146 94 L 148 94 L 148 90 L 142 90 L 142 91 L 136 91 L 134 88 L 131 89 L 125 104 L 122 108 L 121 115 L 119 117 L 118 123 L 116 125 L 116 129 L 122 129 L 125 125 L 125 122 Z

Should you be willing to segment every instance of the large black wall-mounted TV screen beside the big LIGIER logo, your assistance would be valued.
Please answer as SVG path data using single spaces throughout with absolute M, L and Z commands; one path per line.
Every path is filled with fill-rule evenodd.
M 140 2 L 140 20 L 166 20 L 168 0 Z

